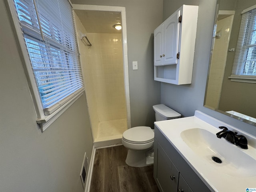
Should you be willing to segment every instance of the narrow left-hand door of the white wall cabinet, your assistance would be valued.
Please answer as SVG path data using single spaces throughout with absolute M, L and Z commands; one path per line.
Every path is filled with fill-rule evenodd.
M 154 30 L 154 66 L 162 65 L 163 25 Z

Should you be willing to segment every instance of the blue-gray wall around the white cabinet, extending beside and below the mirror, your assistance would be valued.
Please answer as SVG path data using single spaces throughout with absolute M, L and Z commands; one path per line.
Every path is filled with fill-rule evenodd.
M 182 4 L 199 6 L 192 84 L 176 86 L 161 83 L 161 103 L 177 110 L 183 116 L 193 116 L 195 110 L 200 110 L 256 135 L 255 126 L 203 107 L 216 0 L 164 0 L 163 19 L 168 18 Z

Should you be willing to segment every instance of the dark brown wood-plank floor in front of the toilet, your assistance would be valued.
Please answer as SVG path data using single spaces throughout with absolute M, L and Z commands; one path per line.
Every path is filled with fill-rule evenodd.
M 90 192 L 159 192 L 153 166 L 126 165 L 127 151 L 124 146 L 96 150 Z

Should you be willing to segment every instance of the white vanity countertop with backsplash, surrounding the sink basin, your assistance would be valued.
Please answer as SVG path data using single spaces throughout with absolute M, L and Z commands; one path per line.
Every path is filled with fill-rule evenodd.
M 224 138 L 218 140 L 224 140 L 227 144 L 238 148 L 235 150 L 242 150 L 242 153 L 246 153 L 252 157 L 253 161 L 255 160 L 256 162 L 256 138 L 254 136 L 212 118 L 200 111 L 196 111 L 195 116 L 192 117 L 159 121 L 155 122 L 155 125 L 213 192 L 246 192 L 246 188 L 256 188 L 256 172 L 249 176 L 246 176 L 246 174 L 242 174 L 242 176 L 239 176 L 238 174 L 235 176 L 232 174 L 226 174 L 222 172 L 222 167 L 225 164 L 217 164 L 212 160 L 207 161 L 204 158 L 200 158 L 200 156 L 191 150 L 186 142 L 184 142 L 180 134 L 182 131 L 191 128 L 202 128 L 215 135 L 217 132 L 221 131 L 218 126 L 226 126 L 229 130 L 236 130 L 238 134 L 246 136 L 248 140 L 248 149 L 244 150 L 238 148 L 234 144 L 224 140 Z M 194 139 L 196 140 L 196 138 Z M 248 162 L 241 163 L 246 164 Z M 252 169 L 255 169 L 255 167 L 252 167 Z M 238 171 L 239 167 L 236 172 Z

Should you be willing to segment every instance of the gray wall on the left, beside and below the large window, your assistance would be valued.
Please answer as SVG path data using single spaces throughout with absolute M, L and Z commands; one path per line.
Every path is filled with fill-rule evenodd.
M 83 192 L 82 161 L 92 154 L 86 98 L 42 133 L 3 0 L 0 13 L 0 191 Z

